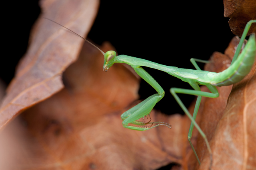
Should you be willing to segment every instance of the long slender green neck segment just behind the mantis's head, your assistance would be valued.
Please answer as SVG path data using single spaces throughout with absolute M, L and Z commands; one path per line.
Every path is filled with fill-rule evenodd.
M 154 68 L 157 70 L 161 70 L 164 72 L 167 72 L 168 74 L 172 74 L 178 67 L 173 67 L 173 66 L 166 66 L 158 63 L 154 63 L 152 61 L 136 58 L 136 57 L 130 57 L 127 55 L 118 55 L 116 56 L 116 63 L 125 63 L 133 66 L 146 66 L 150 68 Z

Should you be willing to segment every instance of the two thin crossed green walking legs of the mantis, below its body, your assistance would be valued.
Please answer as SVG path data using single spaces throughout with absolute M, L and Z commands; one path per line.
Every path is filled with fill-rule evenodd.
M 209 90 L 212 93 L 209 92 L 201 92 L 200 87 L 198 86 L 198 84 L 196 84 L 196 82 L 189 82 L 188 83 L 192 86 L 192 88 L 194 88 L 194 90 L 188 90 L 188 89 L 181 89 L 181 88 L 171 88 L 170 92 L 171 94 L 174 96 L 175 100 L 178 102 L 178 104 L 180 105 L 180 107 L 182 108 L 182 110 L 185 112 L 185 114 L 189 117 L 189 119 L 191 120 L 191 124 L 190 124 L 190 128 L 189 128 L 189 132 L 188 132 L 188 141 L 190 143 L 190 146 L 196 156 L 196 159 L 198 160 L 198 163 L 200 163 L 200 160 L 196 154 L 196 150 L 194 149 L 192 142 L 191 142 L 191 137 L 192 137 L 192 131 L 194 126 L 196 127 L 196 129 L 198 129 L 199 133 L 202 135 L 206 146 L 208 148 L 208 151 L 210 153 L 210 167 L 212 166 L 212 150 L 210 149 L 210 145 L 209 142 L 206 138 L 206 135 L 204 134 L 204 132 L 202 131 L 202 129 L 199 127 L 199 125 L 196 123 L 196 115 L 200 106 L 200 102 L 202 99 L 202 96 L 205 97 L 209 97 L 209 98 L 217 98 L 219 96 L 218 90 L 215 86 L 212 85 L 206 85 Z M 182 103 L 182 101 L 180 100 L 180 98 L 178 97 L 177 93 L 183 93 L 183 94 L 190 94 L 190 95 L 196 95 L 198 96 L 197 100 L 196 100 L 196 106 L 194 108 L 194 113 L 193 113 L 193 117 L 190 115 L 188 109 L 184 106 L 184 104 Z

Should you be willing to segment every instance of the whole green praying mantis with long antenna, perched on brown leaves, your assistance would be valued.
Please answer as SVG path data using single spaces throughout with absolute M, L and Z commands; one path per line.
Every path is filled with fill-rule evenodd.
M 48 19 L 48 18 L 46 18 Z M 50 19 L 48 19 L 50 20 Z M 52 21 L 52 20 L 50 20 Z M 56 23 L 55 21 L 53 21 Z M 123 120 L 122 125 L 125 128 L 132 129 L 132 130 L 138 130 L 138 131 L 146 131 L 149 129 L 152 129 L 154 127 L 157 127 L 159 125 L 164 125 L 166 127 L 171 128 L 171 126 L 168 123 L 164 122 L 151 122 L 150 121 L 140 121 L 141 118 L 144 119 L 144 117 L 149 116 L 150 112 L 152 111 L 153 107 L 156 105 L 157 102 L 159 102 L 164 97 L 164 90 L 162 87 L 146 72 L 142 66 L 154 68 L 157 70 L 164 71 L 171 76 L 174 76 L 176 78 L 180 78 L 182 81 L 187 82 L 192 86 L 194 90 L 189 89 L 182 89 L 182 88 L 171 88 L 170 92 L 174 96 L 175 100 L 178 102 L 182 110 L 185 112 L 185 114 L 189 117 L 191 120 L 191 125 L 188 131 L 188 141 L 190 143 L 190 146 L 196 156 L 196 159 L 198 160 L 198 163 L 200 164 L 200 160 L 196 154 L 196 151 L 194 149 L 194 146 L 191 142 L 192 137 L 192 131 L 194 126 L 196 129 L 198 129 L 200 135 L 202 135 L 208 152 L 210 153 L 210 167 L 212 166 L 212 150 L 210 149 L 209 142 L 206 138 L 206 135 L 201 130 L 199 125 L 196 123 L 196 115 L 200 106 L 200 102 L 202 99 L 202 96 L 209 97 L 209 98 L 217 98 L 219 96 L 218 90 L 216 86 L 228 86 L 231 84 L 234 84 L 236 82 L 240 82 L 251 70 L 252 65 L 254 63 L 255 55 L 256 55 L 256 41 L 255 41 L 255 34 L 250 35 L 248 42 L 246 43 L 242 53 L 240 53 L 242 49 L 242 44 L 244 42 L 244 39 L 246 37 L 246 34 L 248 33 L 250 26 L 252 23 L 256 23 L 256 20 L 251 20 L 246 24 L 246 27 L 244 29 L 244 32 L 242 34 L 242 37 L 240 39 L 240 42 L 238 44 L 237 50 L 234 54 L 234 58 L 232 60 L 232 63 L 229 68 L 226 70 L 216 73 L 216 72 L 208 72 L 203 71 L 199 68 L 196 62 L 202 62 L 207 63 L 208 61 L 202 61 L 199 59 L 190 59 L 191 63 L 194 65 L 196 70 L 192 69 L 184 69 L 184 68 L 177 68 L 174 66 L 166 66 L 158 63 L 154 63 L 151 61 L 147 61 L 145 59 L 130 57 L 127 55 L 118 55 L 116 56 L 115 51 L 108 51 L 104 53 L 101 51 L 98 47 L 90 43 L 88 40 L 84 39 L 80 35 L 79 37 L 83 38 L 85 41 L 96 47 L 101 53 L 104 55 L 104 65 L 103 70 L 108 71 L 108 69 L 114 64 L 114 63 L 124 63 L 130 65 L 135 72 L 143 78 L 148 84 L 150 84 L 155 90 L 156 94 L 148 97 L 146 100 L 140 102 L 136 106 L 132 107 L 131 109 L 127 110 L 121 115 L 121 119 Z M 57 23 L 60 25 L 59 23 Z M 61 25 L 64 27 L 63 25 Z M 65 27 L 66 28 L 66 27 Z M 68 29 L 68 28 L 66 28 Z M 68 29 L 70 30 L 70 29 Z M 72 30 L 70 30 L 72 31 Z M 72 31 L 74 33 L 74 31 Z M 239 55 L 240 54 L 240 55 Z M 239 56 L 238 56 L 239 55 Z M 210 92 L 201 92 L 199 85 L 206 86 Z M 177 94 L 190 94 L 198 96 L 196 100 L 196 105 L 194 108 L 193 116 L 190 115 L 188 112 L 188 109 L 184 106 L 180 98 Z M 149 116 L 150 117 L 150 116 Z M 156 124 L 153 126 L 153 124 Z M 209 167 L 209 168 L 210 168 Z

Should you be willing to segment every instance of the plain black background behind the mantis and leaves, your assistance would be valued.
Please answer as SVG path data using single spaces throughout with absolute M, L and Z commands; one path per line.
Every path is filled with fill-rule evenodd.
M 214 51 L 224 53 L 234 34 L 228 25 L 229 18 L 223 16 L 223 1 L 165 2 L 104 0 L 88 38 L 99 45 L 110 41 L 119 55 L 179 68 L 194 69 L 189 61 L 192 57 L 208 60 Z M 6 2 L 3 7 L 8 12 L 3 15 L 2 22 L 4 45 L 0 78 L 8 84 L 16 64 L 26 52 L 29 32 L 40 8 L 35 0 Z M 203 64 L 199 66 L 202 68 Z M 171 87 L 191 87 L 159 70 L 145 69 L 166 92 L 155 108 L 166 114 L 183 113 L 169 90 Z M 142 80 L 141 99 L 154 93 L 156 91 Z M 190 95 L 179 96 L 187 107 L 194 99 Z

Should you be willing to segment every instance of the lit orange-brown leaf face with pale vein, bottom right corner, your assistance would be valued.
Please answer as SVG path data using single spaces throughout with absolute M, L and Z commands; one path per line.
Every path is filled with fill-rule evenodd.
M 212 169 L 250 170 L 256 168 L 256 63 L 253 70 L 234 84 L 224 115 L 212 138 Z M 238 102 L 239 101 L 239 102 Z M 208 155 L 200 169 L 208 166 Z M 220 168 L 221 167 L 221 168 Z

